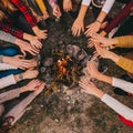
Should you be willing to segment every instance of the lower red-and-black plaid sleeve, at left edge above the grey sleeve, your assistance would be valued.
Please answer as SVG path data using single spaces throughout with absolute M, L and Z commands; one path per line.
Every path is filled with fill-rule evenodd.
M 23 31 L 16 29 L 11 27 L 10 24 L 6 24 L 4 22 L 0 22 L 1 30 L 11 33 L 12 35 L 22 39 L 23 38 Z

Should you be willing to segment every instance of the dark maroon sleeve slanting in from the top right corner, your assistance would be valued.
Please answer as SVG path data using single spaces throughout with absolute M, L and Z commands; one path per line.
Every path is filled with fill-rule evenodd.
M 121 12 L 106 25 L 104 31 L 109 33 L 113 28 L 117 27 L 132 11 L 133 0 L 131 0 Z

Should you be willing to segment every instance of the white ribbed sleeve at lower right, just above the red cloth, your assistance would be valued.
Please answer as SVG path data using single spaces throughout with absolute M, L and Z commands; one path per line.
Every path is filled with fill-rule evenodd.
M 113 109 L 116 113 L 124 116 L 125 119 L 133 122 L 133 110 L 125 106 L 114 98 L 110 96 L 109 94 L 104 94 L 102 100 L 106 105 L 109 105 L 111 109 Z

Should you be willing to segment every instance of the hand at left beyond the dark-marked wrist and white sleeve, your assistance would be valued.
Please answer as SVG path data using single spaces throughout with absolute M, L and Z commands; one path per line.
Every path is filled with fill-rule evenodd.
M 38 70 L 27 70 L 25 72 L 21 73 L 23 79 L 34 79 L 38 76 L 39 71 Z

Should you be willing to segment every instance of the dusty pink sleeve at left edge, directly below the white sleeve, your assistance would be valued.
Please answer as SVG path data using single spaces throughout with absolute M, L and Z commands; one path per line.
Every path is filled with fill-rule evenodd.
M 0 103 L 7 102 L 14 98 L 19 98 L 19 95 L 20 95 L 20 89 L 14 89 L 14 90 L 0 93 Z

